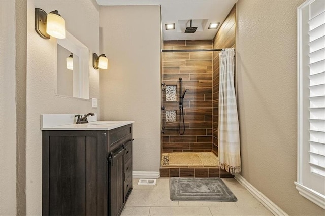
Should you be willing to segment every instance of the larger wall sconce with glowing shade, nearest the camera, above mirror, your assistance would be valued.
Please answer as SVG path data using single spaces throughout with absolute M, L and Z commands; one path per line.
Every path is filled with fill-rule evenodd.
M 47 14 L 40 8 L 35 8 L 35 30 L 44 39 L 50 36 L 58 39 L 66 38 L 66 21 L 57 10 Z

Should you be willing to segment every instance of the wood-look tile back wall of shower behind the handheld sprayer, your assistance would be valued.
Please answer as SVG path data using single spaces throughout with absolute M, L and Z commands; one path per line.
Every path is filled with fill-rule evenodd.
M 164 49 L 212 49 L 211 40 L 164 41 Z M 212 52 L 164 52 L 163 83 L 177 85 L 177 101 L 165 101 L 166 110 L 176 110 L 176 122 L 166 122 L 163 115 L 163 152 L 211 152 L 212 151 Z M 179 96 L 184 97 L 185 133 L 178 134 Z

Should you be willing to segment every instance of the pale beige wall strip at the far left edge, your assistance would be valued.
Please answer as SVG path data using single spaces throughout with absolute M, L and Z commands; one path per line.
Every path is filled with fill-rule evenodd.
M 15 215 L 15 1 L 0 1 L 0 29 L 0 215 Z

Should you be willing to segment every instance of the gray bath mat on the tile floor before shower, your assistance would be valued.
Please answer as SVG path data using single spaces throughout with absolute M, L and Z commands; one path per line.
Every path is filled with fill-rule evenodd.
M 237 201 L 221 178 L 170 178 L 169 188 L 172 201 Z

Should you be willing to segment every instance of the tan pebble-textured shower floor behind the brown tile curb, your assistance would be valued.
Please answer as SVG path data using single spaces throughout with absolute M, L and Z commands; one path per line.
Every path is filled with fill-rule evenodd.
M 216 167 L 219 166 L 219 160 L 212 152 L 171 152 L 163 153 L 161 165 L 163 167 Z

